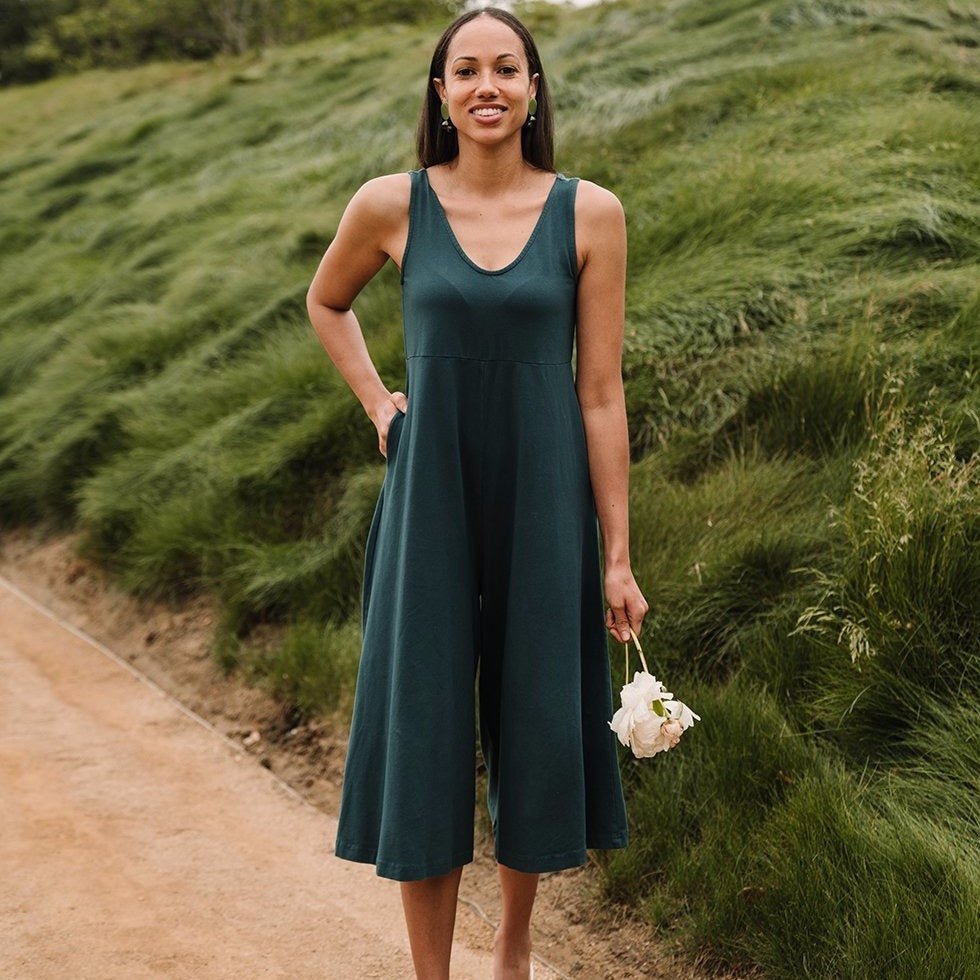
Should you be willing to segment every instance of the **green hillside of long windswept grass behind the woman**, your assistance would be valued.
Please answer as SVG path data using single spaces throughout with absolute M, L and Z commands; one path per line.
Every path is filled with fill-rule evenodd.
M 606 895 L 768 977 L 977 978 L 980 12 L 528 20 L 560 168 L 626 207 L 644 649 L 704 719 L 624 754 Z M 440 26 L 0 92 L 0 521 L 214 592 L 215 655 L 302 712 L 349 709 L 384 473 L 305 292 L 415 165 Z M 404 388 L 391 267 L 356 309 Z

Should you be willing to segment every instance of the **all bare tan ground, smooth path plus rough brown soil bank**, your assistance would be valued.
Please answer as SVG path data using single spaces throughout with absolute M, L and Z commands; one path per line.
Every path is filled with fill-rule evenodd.
M 397 882 L 331 853 L 345 719 L 293 723 L 214 662 L 210 598 L 133 598 L 75 540 L 0 534 L 0 973 L 413 977 Z M 541 876 L 536 980 L 730 980 L 600 902 L 598 880 Z M 454 977 L 492 976 L 499 914 L 479 835 Z

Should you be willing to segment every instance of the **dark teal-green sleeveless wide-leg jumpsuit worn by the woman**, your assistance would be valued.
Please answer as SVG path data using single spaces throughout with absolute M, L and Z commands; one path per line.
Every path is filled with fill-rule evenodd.
M 478 707 L 496 860 L 577 867 L 628 843 L 571 365 L 578 178 L 556 176 L 523 251 L 488 271 L 410 176 L 408 410 L 365 545 L 334 853 L 402 881 L 472 861 Z

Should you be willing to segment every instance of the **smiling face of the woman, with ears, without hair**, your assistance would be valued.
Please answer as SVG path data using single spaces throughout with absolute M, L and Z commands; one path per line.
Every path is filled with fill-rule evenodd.
M 495 17 L 475 17 L 453 36 L 443 78 L 432 80 L 460 137 L 496 143 L 520 132 L 537 93 L 524 44 Z

